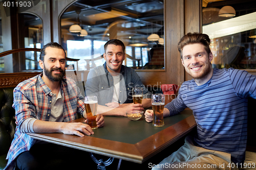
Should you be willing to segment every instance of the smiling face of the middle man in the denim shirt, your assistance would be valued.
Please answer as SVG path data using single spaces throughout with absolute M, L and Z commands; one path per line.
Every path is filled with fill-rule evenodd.
M 106 61 L 106 68 L 110 73 L 120 72 L 123 60 L 125 59 L 121 45 L 109 44 L 106 47 L 103 57 Z

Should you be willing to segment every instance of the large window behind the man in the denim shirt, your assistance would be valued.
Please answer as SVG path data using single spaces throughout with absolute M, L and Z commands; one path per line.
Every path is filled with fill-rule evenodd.
M 79 59 L 77 70 L 90 70 L 102 65 L 103 45 L 110 39 L 120 39 L 124 43 L 124 65 L 135 69 L 164 69 L 164 62 L 156 62 L 164 60 L 164 53 L 154 53 L 164 49 L 159 40 L 164 38 L 163 8 L 163 0 L 140 0 L 136 3 L 77 1 L 60 18 L 61 45 L 69 58 Z M 81 32 L 70 32 L 74 25 L 86 32 L 85 36 Z M 147 40 L 152 34 L 158 38 Z M 74 62 L 73 65 L 71 67 L 76 69 Z

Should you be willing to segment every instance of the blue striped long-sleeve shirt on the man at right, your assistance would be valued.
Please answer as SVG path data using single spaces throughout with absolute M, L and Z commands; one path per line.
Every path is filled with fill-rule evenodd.
M 186 107 L 197 122 L 194 143 L 198 147 L 231 154 L 231 161 L 242 163 L 247 142 L 248 97 L 256 99 L 256 76 L 238 69 L 214 69 L 211 79 L 197 86 L 184 82 L 177 100 L 165 107 L 175 115 Z

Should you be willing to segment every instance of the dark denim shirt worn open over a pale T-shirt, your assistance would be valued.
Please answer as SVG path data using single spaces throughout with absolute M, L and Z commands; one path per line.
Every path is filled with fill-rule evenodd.
M 145 88 L 133 68 L 122 65 L 120 74 L 120 104 L 133 103 L 133 87 L 143 87 L 143 99 L 151 98 L 151 92 Z M 122 79 L 124 79 L 124 84 Z M 95 67 L 89 72 L 85 93 L 86 95 L 96 95 L 99 105 L 105 106 L 106 103 L 112 102 L 113 95 L 115 95 L 114 80 L 108 69 L 106 69 L 106 62 L 102 66 Z

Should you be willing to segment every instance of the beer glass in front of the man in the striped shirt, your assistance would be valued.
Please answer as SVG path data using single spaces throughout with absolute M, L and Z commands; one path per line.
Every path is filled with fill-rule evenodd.
M 163 122 L 164 94 L 152 94 L 153 126 L 164 126 Z

